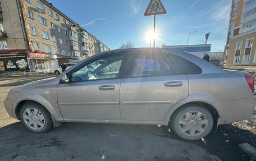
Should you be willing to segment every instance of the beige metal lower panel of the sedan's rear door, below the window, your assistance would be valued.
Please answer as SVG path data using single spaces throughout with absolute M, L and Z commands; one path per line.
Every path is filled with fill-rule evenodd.
M 164 86 L 181 81 L 182 86 Z M 163 121 L 171 106 L 189 93 L 186 75 L 122 79 L 120 111 L 122 120 Z

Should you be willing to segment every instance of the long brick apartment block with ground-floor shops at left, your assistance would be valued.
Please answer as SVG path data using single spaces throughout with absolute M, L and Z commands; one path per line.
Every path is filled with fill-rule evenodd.
M 0 0 L 0 3 L 0 72 L 51 72 L 61 63 L 77 62 L 95 54 L 94 43 L 98 39 L 52 3 L 45 0 Z M 17 64 L 21 59 L 22 67 L 26 64 L 26 68 Z M 8 68 L 8 64 L 13 67 Z

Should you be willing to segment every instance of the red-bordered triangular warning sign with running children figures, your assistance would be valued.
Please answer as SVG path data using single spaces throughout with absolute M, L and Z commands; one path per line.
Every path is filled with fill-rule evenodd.
M 144 16 L 165 14 L 166 10 L 160 0 L 151 0 Z

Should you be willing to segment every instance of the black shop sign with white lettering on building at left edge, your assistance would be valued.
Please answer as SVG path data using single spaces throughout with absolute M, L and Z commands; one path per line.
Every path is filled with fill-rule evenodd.
M 27 56 L 0 56 L 0 72 L 29 70 Z

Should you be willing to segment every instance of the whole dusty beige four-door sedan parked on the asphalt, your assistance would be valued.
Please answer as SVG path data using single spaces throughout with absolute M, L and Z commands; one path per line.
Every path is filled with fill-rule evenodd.
M 252 117 L 253 76 L 225 71 L 180 50 L 134 48 L 95 54 L 57 77 L 8 91 L 4 107 L 33 132 L 60 122 L 170 126 L 196 140 Z

